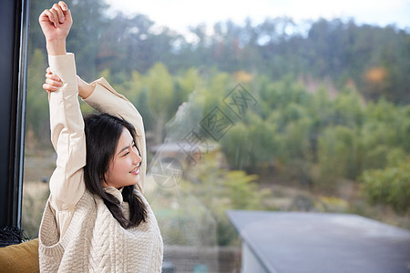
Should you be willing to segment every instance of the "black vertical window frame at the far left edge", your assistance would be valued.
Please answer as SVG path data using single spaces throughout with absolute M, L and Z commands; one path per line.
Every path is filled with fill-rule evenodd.
M 0 227 L 21 228 L 30 0 L 0 4 Z

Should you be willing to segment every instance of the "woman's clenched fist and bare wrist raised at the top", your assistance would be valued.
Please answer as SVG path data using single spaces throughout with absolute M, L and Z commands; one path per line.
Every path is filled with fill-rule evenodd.
M 65 55 L 66 38 L 73 25 L 73 19 L 66 3 L 60 1 L 50 9 L 43 11 L 38 22 L 46 36 L 48 54 Z

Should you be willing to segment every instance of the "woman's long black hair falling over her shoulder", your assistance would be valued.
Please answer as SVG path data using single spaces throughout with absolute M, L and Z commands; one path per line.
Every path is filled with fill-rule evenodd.
M 84 117 L 87 163 L 84 167 L 84 179 L 87 189 L 104 200 L 112 216 L 121 227 L 136 227 L 146 221 L 147 207 L 134 193 L 134 185 L 123 187 L 122 196 L 129 205 L 129 219 L 124 215 L 117 197 L 107 193 L 102 183 L 107 183 L 106 173 L 111 160 L 114 159 L 119 136 L 127 128 L 131 136 L 136 139 L 136 131 L 127 121 L 108 114 L 89 114 Z

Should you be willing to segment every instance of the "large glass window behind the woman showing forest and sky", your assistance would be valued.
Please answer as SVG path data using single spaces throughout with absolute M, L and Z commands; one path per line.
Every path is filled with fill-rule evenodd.
M 408 4 L 351 12 L 288 2 L 67 1 L 77 74 L 104 76 L 144 118 L 146 195 L 175 272 L 241 267 L 231 209 L 410 228 Z M 37 23 L 52 3 L 31 0 L 23 228 L 32 238 L 56 161 Z

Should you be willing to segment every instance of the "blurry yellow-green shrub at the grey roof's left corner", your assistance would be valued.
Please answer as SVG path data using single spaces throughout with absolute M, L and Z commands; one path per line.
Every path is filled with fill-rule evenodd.
M 195 182 L 181 184 L 183 191 L 199 199 L 217 224 L 218 245 L 227 246 L 237 238 L 226 217 L 228 209 L 272 209 L 263 203 L 269 190 L 259 189 L 257 176 L 244 171 L 221 169 L 215 158 L 206 158 L 189 171 Z

